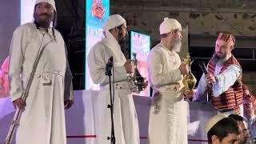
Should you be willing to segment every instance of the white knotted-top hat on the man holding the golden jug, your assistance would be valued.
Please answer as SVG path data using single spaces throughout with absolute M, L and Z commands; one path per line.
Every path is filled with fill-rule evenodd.
M 160 34 L 167 34 L 176 29 L 182 29 L 182 25 L 174 18 L 164 18 L 159 26 Z

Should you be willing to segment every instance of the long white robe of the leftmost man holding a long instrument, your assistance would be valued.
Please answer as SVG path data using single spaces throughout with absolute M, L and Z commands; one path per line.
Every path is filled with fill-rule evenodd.
M 57 30 L 55 35 L 56 42 L 52 30 L 46 33 L 33 23 L 19 26 L 14 31 L 9 68 L 10 98 L 13 101 L 26 89 L 40 43 L 40 49 L 46 46 L 22 112 L 17 144 L 66 144 L 64 99 L 73 99 L 72 75 L 62 35 Z

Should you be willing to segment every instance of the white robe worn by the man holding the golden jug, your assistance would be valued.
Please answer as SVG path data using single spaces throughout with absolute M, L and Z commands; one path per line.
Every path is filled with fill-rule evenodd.
M 159 98 L 154 95 L 150 106 L 149 144 L 187 143 L 187 107 L 181 94 L 180 65 L 178 54 L 161 43 L 150 50 L 147 58 L 150 85 Z

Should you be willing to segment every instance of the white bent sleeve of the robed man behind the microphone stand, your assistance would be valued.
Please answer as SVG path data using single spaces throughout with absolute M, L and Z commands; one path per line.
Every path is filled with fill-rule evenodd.
M 96 44 L 89 52 L 87 61 L 90 70 L 90 77 L 95 84 L 105 85 L 109 82 L 106 76 L 106 62 L 111 55 L 106 54 L 107 47 L 102 44 Z M 125 81 L 127 78 L 126 69 L 124 66 L 114 66 L 115 82 Z M 112 81 L 112 78 L 111 78 Z

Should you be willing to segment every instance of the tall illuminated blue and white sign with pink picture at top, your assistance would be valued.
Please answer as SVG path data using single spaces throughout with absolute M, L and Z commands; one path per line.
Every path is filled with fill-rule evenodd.
M 86 57 L 92 46 L 103 38 L 102 25 L 110 16 L 110 0 L 86 0 Z M 86 59 L 85 59 L 86 61 Z M 90 78 L 89 67 L 86 63 L 85 89 L 99 90 L 99 85 L 94 84 Z

